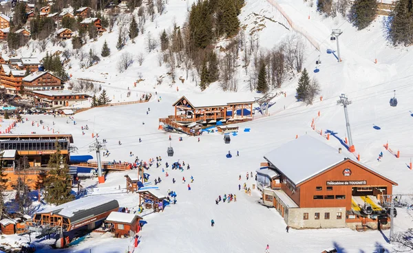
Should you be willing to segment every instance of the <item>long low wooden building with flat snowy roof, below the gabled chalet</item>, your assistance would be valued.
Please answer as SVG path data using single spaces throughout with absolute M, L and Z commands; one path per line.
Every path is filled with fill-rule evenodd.
M 70 107 L 72 104 L 87 100 L 89 95 L 70 90 L 24 90 L 27 98 L 32 98 L 34 104 L 47 105 L 50 108 Z

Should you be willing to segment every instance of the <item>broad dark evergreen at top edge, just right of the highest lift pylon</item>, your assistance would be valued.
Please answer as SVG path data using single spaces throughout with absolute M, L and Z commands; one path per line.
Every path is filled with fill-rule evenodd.
M 350 9 L 352 24 L 358 30 L 367 28 L 376 18 L 377 1 L 376 0 L 356 0 Z

